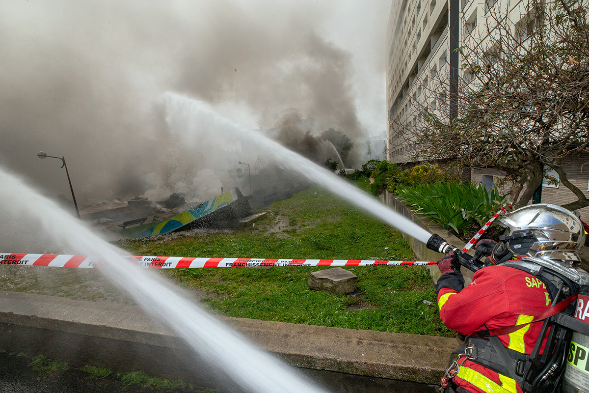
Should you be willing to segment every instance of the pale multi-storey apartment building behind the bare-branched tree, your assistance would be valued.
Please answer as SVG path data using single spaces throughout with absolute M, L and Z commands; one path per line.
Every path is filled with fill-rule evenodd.
M 526 0 L 459 0 L 458 47 L 465 52 L 492 52 L 485 42 L 492 32 L 488 24 L 495 19 L 493 12 L 507 12 L 518 39 L 525 41 L 536 23 L 526 6 Z M 421 160 L 416 157 L 413 130 L 418 130 L 426 113 L 436 111 L 447 118 L 443 111 L 448 111 L 449 96 L 448 14 L 449 0 L 392 2 L 386 37 L 386 98 L 387 159 L 394 163 Z M 459 58 L 458 63 L 463 61 Z M 472 78 L 471 70 L 459 68 L 461 83 Z M 564 170 L 571 183 L 589 195 L 589 153 L 568 157 Z M 471 180 L 491 186 L 503 176 L 497 170 L 473 170 Z M 560 182 L 544 182 L 541 202 L 564 204 L 574 200 L 574 194 Z M 580 212 L 589 221 L 589 207 Z

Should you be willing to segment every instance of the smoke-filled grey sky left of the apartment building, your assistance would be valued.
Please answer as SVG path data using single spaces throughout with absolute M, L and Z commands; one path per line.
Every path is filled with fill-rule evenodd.
M 0 165 L 48 195 L 69 197 L 61 161 L 36 157 L 64 156 L 81 204 L 165 197 L 212 181 L 216 168 L 207 163 L 221 154 L 204 137 L 203 148 L 190 151 L 170 133 L 168 91 L 252 128 L 319 119 L 359 148 L 386 129 L 390 7 L 390 0 L 3 0 Z

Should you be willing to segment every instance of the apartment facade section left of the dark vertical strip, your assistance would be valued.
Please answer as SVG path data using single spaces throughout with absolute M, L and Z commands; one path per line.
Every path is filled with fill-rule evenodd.
M 449 31 L 447 0 L 398 3 L 391 6 L 386 37 L 387 157 L 402 163 L 413 156 L 406 131 L 423 120 L 423 108 L 438 108 L 439 98 L 429 92 L 447 96 L 447 83 L 432 84 L 449 75 Z

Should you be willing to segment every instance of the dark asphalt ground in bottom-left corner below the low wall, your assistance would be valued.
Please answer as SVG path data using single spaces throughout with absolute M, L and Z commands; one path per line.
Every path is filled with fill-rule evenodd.
M 0 393 L 217 393 L 206 388 L 152 389 L 125 386 L 116 377 L 92 378 L 75 368 L 43 376 L 29 364 L 31 358 L 3 352 L 0 354 Z

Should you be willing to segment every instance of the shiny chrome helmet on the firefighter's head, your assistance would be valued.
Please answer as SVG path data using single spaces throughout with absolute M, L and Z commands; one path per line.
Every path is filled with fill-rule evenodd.
M 531 204 L 502 217 L 499 225 L 508 230 L 499 237 L 501 243 L 494 253 L 501 255 L 503 250 L 506 255 L 581 262 L 579 250 L 585 243 L 583 224 L 564 207 Z

